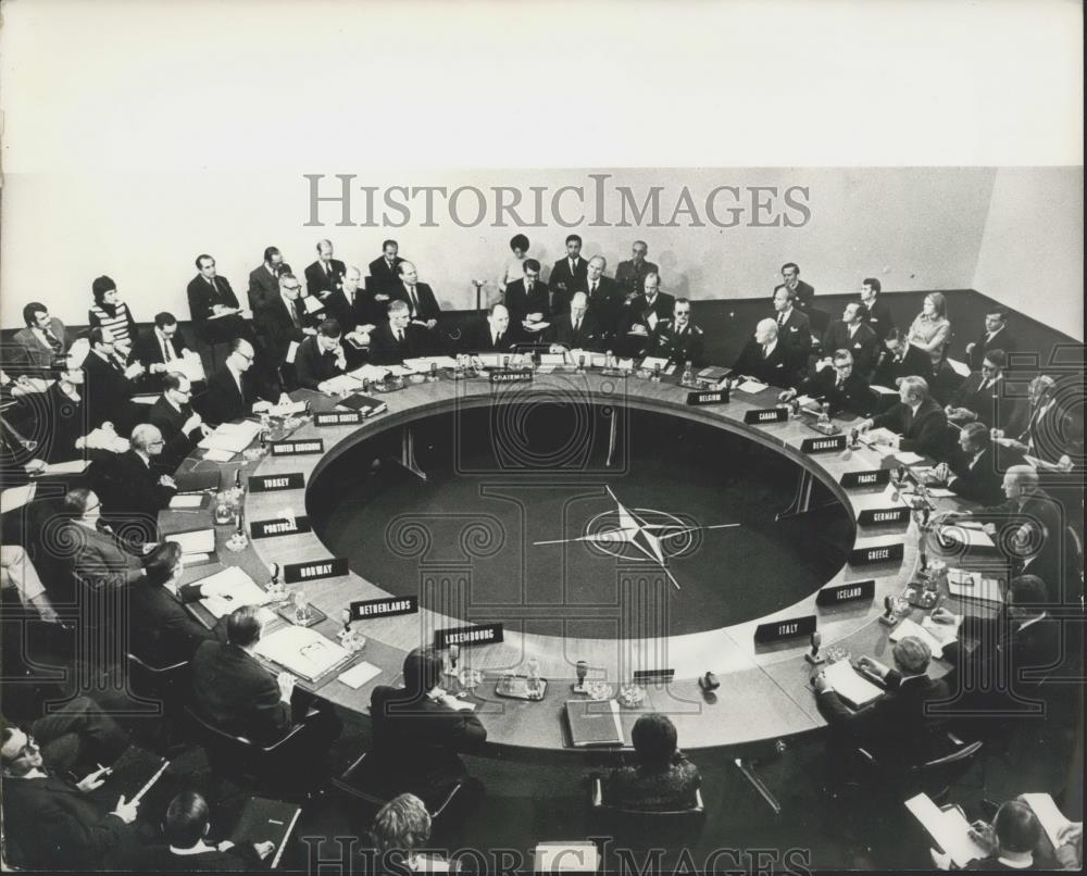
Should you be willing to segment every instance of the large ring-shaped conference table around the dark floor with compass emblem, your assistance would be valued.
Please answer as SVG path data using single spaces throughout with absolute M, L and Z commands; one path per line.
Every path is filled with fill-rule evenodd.
M 798 496 L 810 488 L 804 484 L 813 477 L 823 484 L 847 509 L 855 527 L 854 549 L 902 543 L 902 560 L 853 566 L 847 563 L 827 586 L 874 579 L 875 593 L 871 600 L 845 602 L 839 605 L 816 605 L 816 592 L 792 605 L 765 617 L 738 623 L 709 631 L 673 635 L 653 639 L 577 639 L 533 635 L 507 629 L 504 641 L 474 646 L 461 650 L 461 665 L 485 672 L 483 684 L 471 693 L 476 702 L 476 714 L 487 727 L 489 753 L 502 756 L 544 755 L 549 752 L 582 752 L 569 746 L 563 721 L 563 705 L 575 694 L 571 692 L 574 666 L 584 660 L 591 667 L 589 680 L 607 679 L 625 683 L 620 678 L 620 667 L 672 668 L 674 678 L 667 684 L 647 686 L 645 702 L 638 708 L 621 708 L 625 739 L 638 715 L 647 710 L 666 711 L 675 723 L 685 750 L 749 746 L 774 742 L 783 737 L 815 730 L 826 722 L 816 709 L 815 698 L 809 687 L 811 666 L 804 660 L 810 652 L 807 636 L 757 645 L 755 627 L 759 624 L 784 621 L 814 614 L 822 634 L 823 648 L 841 646 L 855 659 L 870 654 L 890 663 L 888 635 L 890 628 L 878 622 L 884 611 L 884 597 L 900 596 L 919 562 L 919 531 L 912 515 L 892 525 L 858 526 L 858 516 L 867 510 L 887 508 L 884 487 L 845 488 L 844 475 L 896 465 L 894 456 L 862 447 L 848 454 L 824 452 L 808 454 L 801 451 L 805 439 L 821 438 L 809 424 L 812 418 L 797 417 L 780 423 L 749 425 L 745 412 L 777 405 L 777 390 L 771 387 L 755 395 L 732 393 L 732 401 L 724 404 L 690 406 L 690 390 L 677 385 L 673 378 L 661 383 L 629 377 L 605 376 L 589 371 L 588 374 L 553 372 L 534 375 L 532 383 L 499 385 L 486 378 L 452 379 L 443 373 L 437 383 L 411 384 L 403 390 L 379 396 L 388 410 L 361 425 L 316 426 L 312 420 L 298 427 L 290 440 L 320 439 L 323 452 L 305 455 L 265 455 L 253 462 L 242 462 L 242 477 L 247 475 L 277 475 L 301 472 L 308 486 L 333 460 L 348 452 L 361 441 L 389 430 L 403 433 L 403 447 L 411 463 L 411 425 L 416 421 L 458 408 L 466 410 L 491 404 L 532 402 L 534 398 L 571 398 L 571 393 L 594 404 L 625 404 L 633 409 L 663 413 L 684 420 L 738 434 L 769 448 L 797 463 L 803 473 Z M 311 401 L 314 413 L 332 411 L 339 399 L 318 392 L 299 390 L 296 400 Z M 848 431 L 848 428 L 847 428 Z M 179 471 L 208 467 L 214 463 L 201 460 L 202 451 L 193 453 Z M 845 456 L 845 458 L 844 458 Z M 239 463 L 224 463 L 226 470 L 221 483 L 233 481 L 234 470 Z M 285 491 L 247 491 L 243 508 L 247 523 L 267 521 L 280 516 L 284 509 L 296 515 L 304 513 L 305 488 Z M 960 508 L 953 499 L 937 500 L 938 510 Z M 214 526 L 211 509 L 197 513 L 166 510 L 159 517 L 163 536 L 171 533 Z M 329 551 L 313 531 L 271 538 L 251 539 L 243 550 L 232 553 L 225 542 L 234 526 L 216 527 L 216 550 L 221 562 L 243 568 L 259 585 L 270 579 L 273 563 L 318 561 L 330 558 Z M 186 570 L 183 583 L 201 578 L 214 567 L 197 566 Z M 295 590 L 299 585 L 289 586 Z M 335 638 L 341 628 L 340 616 L 353 600 L 367 600 L 393 596 L 382 589 L 380 580 L 366 580 L 353 571 L 348 574 L 311 580 L 304 585 L 310 602 L 328 615 L 315 628 Z M 953 602 L 952 602 L 953 604 Z M 923 612 L 912 609 L 904 616 L 920 622 Z M 207 617 L 203 618 L 207 621 Z M 286 622 L 277 622 L 286 623 Z M 380 669 L 380 674 L 358 689 L 330 678 L 320 679 L 310 689 L 338 708 L 360 714 L 368 712 L 370 697 L 376 685 L 396 685 L 401 676 L 404 655 L 421 642 L 433 641 L 435 629 L 463 627 L 464 618 L 441 615 L 420 608 L 417 614 L 357 621 L 354 628 L 367 639 L 363 659 Z M 545 699 L 528 702 L 496 696 L 497 676 L 505 672 L 525 672 L 529 656 L 537 656 L 541 675 L 548 679 Z M 949 666 L 934 660 L 929 674 L 940 676 Z M 720 688 L 708 693 L 698 678 L 712 671 L 721 681 Z

